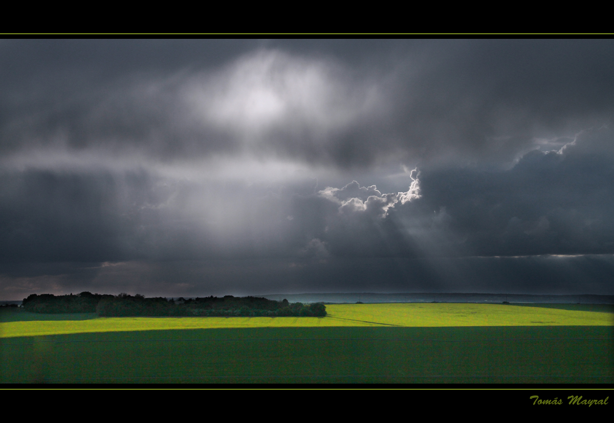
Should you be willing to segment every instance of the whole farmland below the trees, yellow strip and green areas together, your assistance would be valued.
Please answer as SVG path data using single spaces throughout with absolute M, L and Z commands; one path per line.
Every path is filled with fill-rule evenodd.
M 327 317 L 0 312 L 0 382 L 612 383 L 614 310 L 327 305 Z

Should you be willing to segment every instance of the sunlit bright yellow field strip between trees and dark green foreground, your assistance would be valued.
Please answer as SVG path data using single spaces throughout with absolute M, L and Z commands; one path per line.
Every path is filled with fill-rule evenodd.
M 326 309 L 327 317 L 98 317 L 5 322 L 0 323 L 0 338 L 202 328 L 614 325 L 613 313 L 494 304 L 340 304 Z

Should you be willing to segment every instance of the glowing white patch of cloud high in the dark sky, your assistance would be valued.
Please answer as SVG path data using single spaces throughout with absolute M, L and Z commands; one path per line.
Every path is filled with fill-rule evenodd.
M 186 98 L 205 123 L 244 138 L 280 127 L 324 136 L 375 106 L 375 85 L 351 85 L 346 73 L 324 61 L 263 50 L 196 78 Z

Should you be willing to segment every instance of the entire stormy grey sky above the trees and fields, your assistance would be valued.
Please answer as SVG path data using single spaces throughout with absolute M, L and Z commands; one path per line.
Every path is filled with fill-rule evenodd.
M 0 63 L 0 300 L 614 294 L 612 40 L 4 40 Z

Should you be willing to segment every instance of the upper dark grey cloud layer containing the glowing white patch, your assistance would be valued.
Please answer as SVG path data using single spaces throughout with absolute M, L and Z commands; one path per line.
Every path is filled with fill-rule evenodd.
M 342 167 L 518 155 L 612 120 L 610 40 L 4 41 L 2 149 Z

